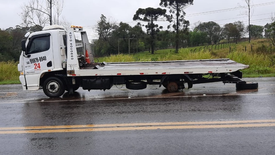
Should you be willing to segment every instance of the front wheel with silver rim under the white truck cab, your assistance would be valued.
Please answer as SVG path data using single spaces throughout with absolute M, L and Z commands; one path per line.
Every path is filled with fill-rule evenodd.
M 64 94 L 64 83 L 57 77 L 49 77 L 43 83 L 43 91 L 48 97 L 59 97 Z

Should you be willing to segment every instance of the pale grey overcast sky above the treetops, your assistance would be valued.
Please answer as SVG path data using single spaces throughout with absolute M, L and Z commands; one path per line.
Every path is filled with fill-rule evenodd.
M 21 5 L 28 3 L 28 1 L 0 0 L 0 28 L 6 29 L 20 25 L 21 18 L 19 14 L 21 13 Z M 264 26 L 266 23 L 270 23 L 268 18 L 271 17 L 272 13 L 274 16 L 275 0 L 252 1 L 254 13 L 251 18 L 251 24 Z M 83 26 L 89 32 L 89 39 L 93 39 L 96 38 L 93 33 L 93 26 L 96 25 L 101 14 L 111 17 L 118 23 L 131 22 L 129 24 L 134 26 L 136 22 L 133 23 L 132 19 L 138 8 L 157 8 L 160 7 L 159 3 L 160 0 L 65 0 L 62 16 L 71 22 L 72 25 Z M 185 19 L 190 21 L 190 28 L 193 28 L 194 23 L 198 21 L 215 21 L 223 26 L 222 24 L 240 20 L 247 25 L 247 17 L 240 15 L 246 9 L 232 9 L 238 7 L 238 4 L 241 6 L 246 5 L 244 0 L 194 0 L 194 5 L 185 9 Z M 159 22 L 158 24 L 166 30 L 169 23 Z

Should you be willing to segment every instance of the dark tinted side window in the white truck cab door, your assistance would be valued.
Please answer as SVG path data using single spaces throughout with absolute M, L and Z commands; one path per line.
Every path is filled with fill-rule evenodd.
M 30 42 L 27 54 L 39 53 L 50 49 L 50 36 L 42 36 L 32 39 Z

